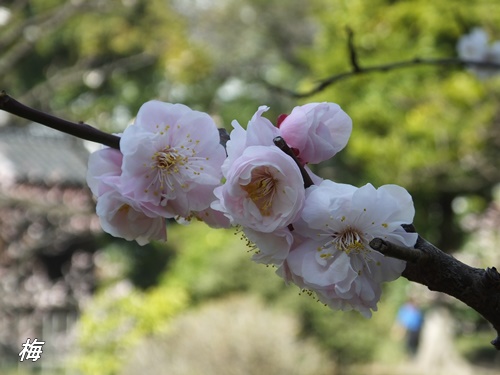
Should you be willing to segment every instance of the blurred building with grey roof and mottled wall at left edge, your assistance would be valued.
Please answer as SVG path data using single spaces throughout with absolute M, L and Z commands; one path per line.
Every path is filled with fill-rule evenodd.
M 44 368 L 74 345 L 101 233 L 88 155 L 81 139 L 40 124 L 0 127 L 0 368 L 19 361 L 27 337 L 47 339 Z

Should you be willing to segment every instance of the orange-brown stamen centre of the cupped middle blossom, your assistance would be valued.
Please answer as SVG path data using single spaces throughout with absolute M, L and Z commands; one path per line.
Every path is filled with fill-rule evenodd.
M 274 178 L 270 169 L 259 167 L 252 170 L 251 181 L 241 188 L 248 193 L 248 197 L 255 203 L 262 216 L 270 216 L 277 185 L 278 180 Z

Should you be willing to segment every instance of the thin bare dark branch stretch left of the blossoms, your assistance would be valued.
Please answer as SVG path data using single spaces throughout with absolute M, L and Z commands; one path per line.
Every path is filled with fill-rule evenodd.
M 118 150 L 120 149 L 120 137 L 105 133 L 88 124 L 66 121 L 59 117 L 49 115 L 48 113 L 30 108 L 7 95 L 5 91 L 0 93 L 0 109 L 66 134 L 97 142 Z

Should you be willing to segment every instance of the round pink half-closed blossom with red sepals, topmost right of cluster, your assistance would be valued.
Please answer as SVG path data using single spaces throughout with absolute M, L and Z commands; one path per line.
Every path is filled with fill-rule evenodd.
M 317 164 L 342 150 L 352 132 L 352 120 L 338 104 L 309 103 L 295 107 L 278 124 L 281 136 L 306 163 Z

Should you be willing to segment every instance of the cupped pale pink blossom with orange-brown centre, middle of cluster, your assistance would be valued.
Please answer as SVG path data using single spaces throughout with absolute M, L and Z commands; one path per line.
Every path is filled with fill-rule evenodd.
M 212 208 L 224 212 L 232 224 L 269 233 L 300 214 L 305 196 L 300 170 L 276 146 L 246 147 L 224 177 L 224 185 L 214 190 L 218 201 Z

